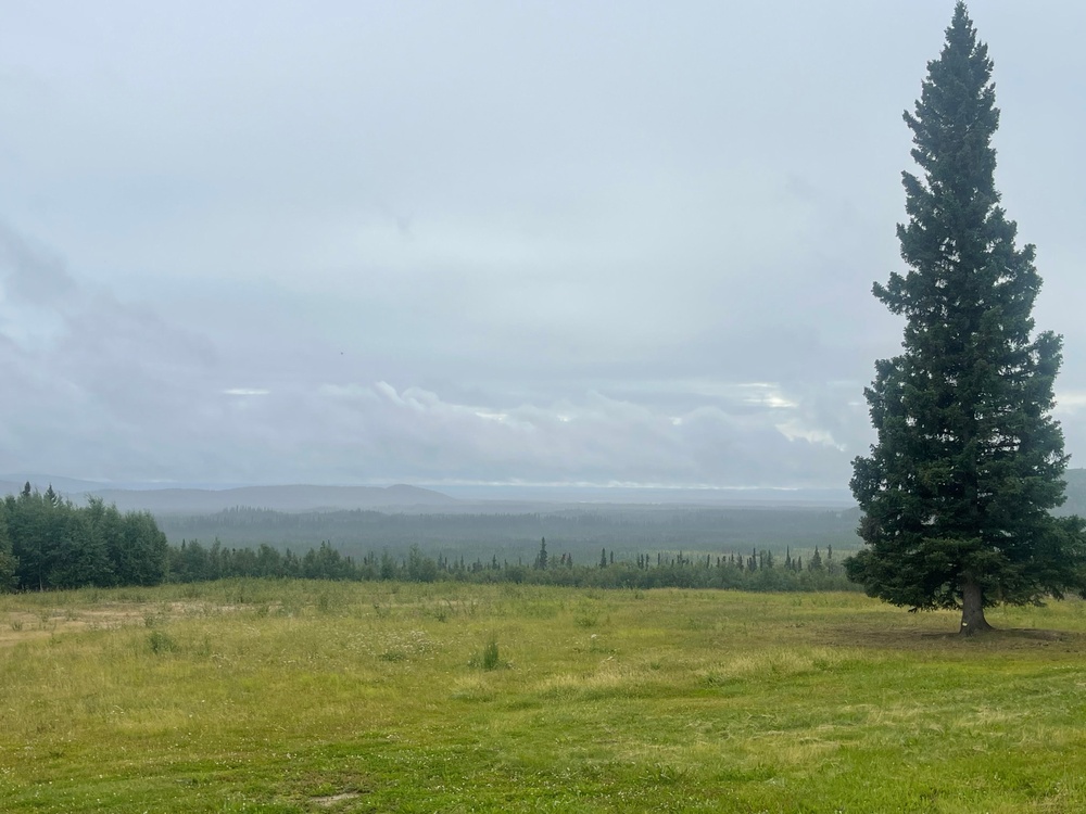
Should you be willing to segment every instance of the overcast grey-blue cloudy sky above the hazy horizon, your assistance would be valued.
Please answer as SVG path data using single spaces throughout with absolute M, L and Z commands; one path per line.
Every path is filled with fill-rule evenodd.
M 974 2 L 1086 465 L 1086 5 Z M 950 0 L 0 3 L 0 474 L 843 487 Z

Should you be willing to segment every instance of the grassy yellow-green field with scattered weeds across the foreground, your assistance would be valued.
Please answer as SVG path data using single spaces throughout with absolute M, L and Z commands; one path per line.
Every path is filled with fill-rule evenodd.
M 224 582 L 0 596 L 0 809 L 1086 811 L 1086 605 Z

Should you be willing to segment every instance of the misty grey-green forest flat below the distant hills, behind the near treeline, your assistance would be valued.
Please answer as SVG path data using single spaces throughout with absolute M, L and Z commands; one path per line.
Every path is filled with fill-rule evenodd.
M 424 513 L 329 511 L 287 513 L 235 508 L 202 517 L 161 516 L 172 543 L 218 538 L 226 546 L 267 543 L 304 550 L 321 542 L 344 555 L 406 550 L 413 545 L 430 554 L 489 560 L 525 557 L 528 561 L 546 537 L 552 551 L 567 551 L 583 562 L 598 559 L 601 548 L 617 557 L 646 551 L 780 551 L 828 545 L 856 548 L 855 509 L 708 508 L 609 505 L 522 513 Z

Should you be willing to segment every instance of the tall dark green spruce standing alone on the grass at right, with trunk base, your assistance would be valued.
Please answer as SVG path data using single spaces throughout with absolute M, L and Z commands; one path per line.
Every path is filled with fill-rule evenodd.
M 904 173 L 904 276 L 874 295 L 907 320 L 904 352 L 875 363 L 864 391 L 877 442 L 854 461 L 867 546 L 848 575 L 913 609 L 984 609 L 1084 589 L 1084 523 L 1063 503 L 1063 433 L 1050 414 L 1061 338 L 1034 335 L 1034 246 L 1015 249 L 999 206 L 992 136 L 999 124 L 987 47 L 963 2 L 929 63 Z

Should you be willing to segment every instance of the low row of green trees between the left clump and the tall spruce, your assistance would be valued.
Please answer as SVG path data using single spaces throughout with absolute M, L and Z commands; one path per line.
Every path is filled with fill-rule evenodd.
M 279 551 L 267 544 L 257 548 L 211 545 L 182 540 L 168 551 L 169 581 L 205 582 L 236 577 L 273 577 L 341 581 L 396 581 L 470 583 L 517 583 L 569 587 L 626 588 L 730 588 L 738 590 L 856 590 L 848 582 L 832 547 L 823 555 L 818 548 L 805 562 L 791 551 L 782 560 L 772 551 L 753 549 L 749 555 L 687 555 L 656 552 L 631 559 L 615 558 L 604 548 L 598 562 L 579 564 L 571 555 L 557 557 L 542 540 L 532 563 L 464 557 L 430 557 L 412 546 L 402 556 L 390 551 L 370 552 L 355 559 L 343 556 L 330 543 L 310 548 L 304 555 Z

